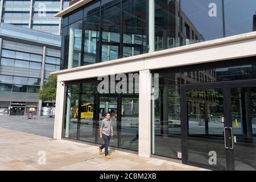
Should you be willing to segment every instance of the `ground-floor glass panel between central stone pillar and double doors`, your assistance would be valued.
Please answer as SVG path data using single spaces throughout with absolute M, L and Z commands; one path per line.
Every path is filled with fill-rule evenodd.
M 152 154 L 177 159 L 181 152 L 180 88 L 160 86 L 157 95 L 152 101 L 155 110 Z

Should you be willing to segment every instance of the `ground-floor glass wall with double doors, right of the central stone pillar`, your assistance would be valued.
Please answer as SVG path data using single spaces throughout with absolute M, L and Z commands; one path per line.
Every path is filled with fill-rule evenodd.
M 255 57 L 153 73 L 159 88 L 152 86 L 152 154 L 180 159 L 182 153 L 183 163 L 210 169 L 255 170 Z M 212 152 L 216 163 L 209 162 Z

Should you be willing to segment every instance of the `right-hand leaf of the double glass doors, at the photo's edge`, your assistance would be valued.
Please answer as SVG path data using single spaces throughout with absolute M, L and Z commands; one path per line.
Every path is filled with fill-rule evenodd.
M 231 88 L 235 170 L 256 170 L 256 87 Z

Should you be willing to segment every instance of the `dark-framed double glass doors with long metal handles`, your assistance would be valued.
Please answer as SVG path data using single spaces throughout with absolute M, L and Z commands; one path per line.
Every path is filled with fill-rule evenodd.
M 250 85 L 256 84 L 181 88 L 183 163 L 256 170 L 256 86 Z

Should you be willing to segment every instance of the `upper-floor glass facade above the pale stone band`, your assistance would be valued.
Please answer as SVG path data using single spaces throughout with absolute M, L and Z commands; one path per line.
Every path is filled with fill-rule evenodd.
M 154 12 L 146 0 L 101 0 L 65 15 L 61 69 L 139 55 L 150 47 L 159 51 L 256 30 L 254 0 L 154 2 Z M 151 14 L 155 27 L 149 26 Z M 154 45 L 149 44 L 150 30 L 155 32 Z

